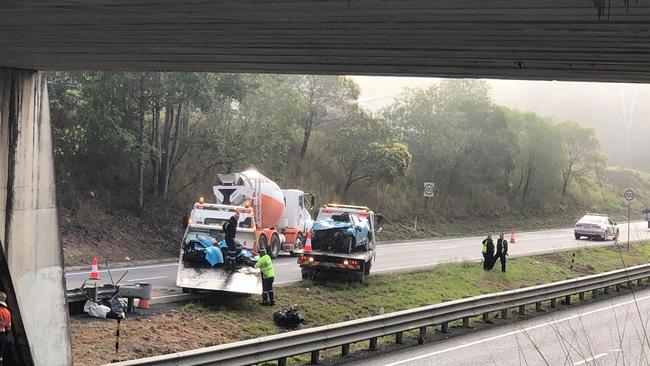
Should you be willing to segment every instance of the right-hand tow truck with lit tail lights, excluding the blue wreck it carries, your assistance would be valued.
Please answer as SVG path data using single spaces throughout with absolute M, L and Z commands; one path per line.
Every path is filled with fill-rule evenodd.
M 375 234 L 381 231 L 380 227 L 375 230 L 375 213 L 365 206 L 331 203 L 321 207 L 316 221 L 341 214 L 352 214 L 367 220 L 369 230 L 366 244 L 349 253 L 318 247 L 313 247 L 310 251 L 296 250 L 303 279 L 316 279 L 318 275 L 329 272 L 347 275 L 363 283 L 366 276 L 370 274 L 376 256 Z

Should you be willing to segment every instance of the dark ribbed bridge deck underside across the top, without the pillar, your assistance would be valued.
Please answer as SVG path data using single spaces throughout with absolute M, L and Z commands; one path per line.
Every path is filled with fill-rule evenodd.
M 648 19 L 643 0 L 9 0 L 0 66 L 648 82 Z

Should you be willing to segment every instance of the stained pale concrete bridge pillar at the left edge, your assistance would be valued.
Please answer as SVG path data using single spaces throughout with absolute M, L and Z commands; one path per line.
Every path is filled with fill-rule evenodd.
M 34 364 L 70 365 L 47 83 L 35 71 L 0 68 L 0 240 Z

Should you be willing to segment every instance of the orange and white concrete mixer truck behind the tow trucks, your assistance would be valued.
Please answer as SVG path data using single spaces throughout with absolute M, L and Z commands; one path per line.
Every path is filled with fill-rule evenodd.
M 267 248 L 272 258 L 281 251 L 302 249 L 313 220 L 309 209 L 313 195 L 297 189 L 281 189 L 255 170 L 219 174 L 213 187 L 217 203 L 253 209 L 255 248 Z

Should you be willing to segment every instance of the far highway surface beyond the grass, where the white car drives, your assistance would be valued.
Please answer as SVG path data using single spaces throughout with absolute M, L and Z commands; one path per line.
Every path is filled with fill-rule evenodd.
M 620 242 L 627 240 L 627 224 L 619 224 Z M 510 233 L 506 233 L 509 238 Z M 497 235 L 494 236 L 495 242 Z M 411 240 L 378 244 L 377 259 L 371 274 L 408 271 L 433 267 L 440 263 L 482 260 L 481 237 L 467 237 L 440 240 Z M 650 229 L 645 221 L 633 222 L 630 227 L 630 241 L 650 240 Z M 516 243 L 509 247 L 510 258 L 533 254 L 582 248 L 587 246 L 612 245 L 613 241 L 575 240 L 573 228 L 530 231 L 516 234 Z M 179 247 L 180 250 L 180 247 Z M 301 281 L 300 268 L 296 258 L 281 255 L 273 261 L 275 284 L 290 284 Z M 148 282 L 154 288 L 174 288 L 176 286 L 177 263 L 127 267 L 112 270 L 115 280 L 125 271 L 128 273 L 122 283 Z M 90 268 L 89 268 L 90 269 Z M 66 273 L 68 289 L 80 287 L 88 278 L 88 271 Z M 105 269 L 100 266 L 102 283 L 110 283 Z

